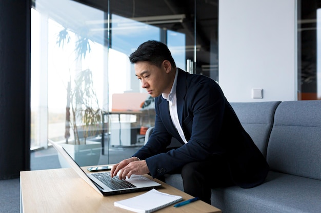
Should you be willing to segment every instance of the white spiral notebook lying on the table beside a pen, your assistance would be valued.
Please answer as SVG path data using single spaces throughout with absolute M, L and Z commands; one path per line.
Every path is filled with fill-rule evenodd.
M 172 205 L 182 199 L 182 196 L 170 195 L 152 189 L 142 195 L 116 201 L 114 206 L 138 213 L 149 213 Z

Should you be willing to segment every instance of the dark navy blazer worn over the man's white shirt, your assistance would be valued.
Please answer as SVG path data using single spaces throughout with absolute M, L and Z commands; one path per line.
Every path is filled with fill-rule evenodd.
M 146 159 L 152 177 L 170 173 L 193 161 L 212 155 L 227 159 L 231 177 L 241 187 L 264 181 L 269 165 L 240 124 L 222 89 L 212 79 L 177 68 L 177 111 L 187 144 L 180 138 L 170 114 L 169 103 L 155 98 L 155 127 L 147 144 L 133 156 Z M 165 153 L 174 137 L 182 147 Z M 215 171 L 215 168 L 209 168 Z

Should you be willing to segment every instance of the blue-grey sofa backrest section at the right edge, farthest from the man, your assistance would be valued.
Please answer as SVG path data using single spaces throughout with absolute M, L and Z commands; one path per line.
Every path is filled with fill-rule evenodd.
M 278 105 L 267 161 L 271 170 L 321 180 L 321 101 Z

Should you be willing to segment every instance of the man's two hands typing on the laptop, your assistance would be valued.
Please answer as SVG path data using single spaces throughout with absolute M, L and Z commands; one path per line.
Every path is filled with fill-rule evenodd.
M 120 172 L 119 172 L 120 171 Z M 126 176 L 130 178 L 131 175 L 144 175 L 149 173 L 146 160 L 138 160 L 136 157 L 122 160 L 113 165 L 110 171 L 111 177 L 114 177 L 119 172 L 119 179 L 125 180 Z

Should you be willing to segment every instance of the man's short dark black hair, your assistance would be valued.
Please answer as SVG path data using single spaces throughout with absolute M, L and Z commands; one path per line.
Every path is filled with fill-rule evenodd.
M 175 61 L 167 45 L 155 40 L 149 40 L 139 45 L 137 50 L 130 54 L 129 60 L 131 63 L 148 61 L 158 67 L 164 60 L 168 60 L 176 68 Z

